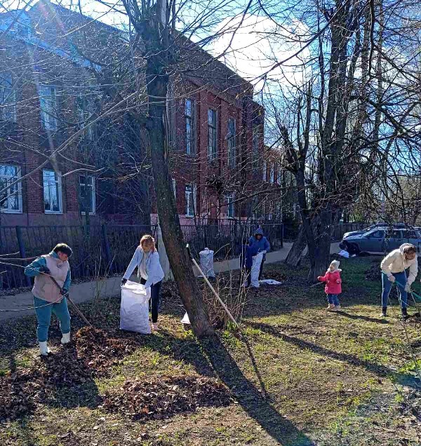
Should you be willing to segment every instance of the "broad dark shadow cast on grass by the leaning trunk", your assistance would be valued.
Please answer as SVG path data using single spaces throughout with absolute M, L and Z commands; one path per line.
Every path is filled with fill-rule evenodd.
M 161 335 L 166 338 L 167 342 L 173 339 L 173 336 L 162 330 Z M 208 367 L 208 372 L 213 372 L 232 392 L 236 401 L 244 409 L 249 417 L 253 418 L 274 440 L 284 446 L 312 446 L 315 443 L 302 433 L 295 425 L 283 417 L 279 412 L 270 405 L 265 398 L 265 385 L 262 382 L 257 365 L 254 361 L 255 371 L 258 374 L 258 380 L 262 391 L 259 391 L 253 383 L 251 383 L 237 365 L 236 361 L 229 354 L 228 350 L 222 344 L 217 335 L 201 339 L 200 343 L 194 343 L 190 347 L 189 355 L 182 353 L 182 350 L 175 350 L 175 359 L 188 361 L 196 367 L 200 365 L 203 370 L 203 363 L 207 363 L 212 367 Z M 146 341 L 146 345 L 148 341 Z M 158 348 L 165 343 L 153 342 L 150 344 L 153 348 Z M 160 353 L 168 354 L 168 350 L 159 349 Z

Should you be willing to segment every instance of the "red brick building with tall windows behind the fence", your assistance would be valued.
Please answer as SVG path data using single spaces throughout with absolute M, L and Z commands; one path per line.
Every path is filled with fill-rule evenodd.
M 136 80 L 119 62 L 122 33 L 49 1 L 2 15 L 0 32 L 0 224 L 154 220 L 147 143 L 107 97 L 107 79 Z M 232 70 L 182 36 L 176 45 L 168 127 L 180 220 L 249 218 L 267 188 L 264 110 Z

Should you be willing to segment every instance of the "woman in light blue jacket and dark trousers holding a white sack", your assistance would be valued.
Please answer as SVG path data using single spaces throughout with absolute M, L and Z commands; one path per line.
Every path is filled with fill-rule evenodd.
M 140 239 L 140 245 L 133 254 L 123 279 L 121 279 L 121 285 L 127 282 L 136 267 L 138 267 L 139 282 L 145 285 L 145 288 L 151 288 L 152 330 L 156 331 L 158 330 L 159 290 L 163 280 L 163 270 L 152 235 L 144 235 Z

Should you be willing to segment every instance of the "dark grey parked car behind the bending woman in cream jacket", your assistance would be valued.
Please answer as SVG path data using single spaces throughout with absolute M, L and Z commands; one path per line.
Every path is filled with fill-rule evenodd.
M 349 253 L 385 253 L 397 249 L 403 243 L 411 243 L 421 249 L 421 232 L 415 229 L 406 228 L 375 228 L 364 234 L 351 235 L 340 243 L 341 249 L 346 249 Z

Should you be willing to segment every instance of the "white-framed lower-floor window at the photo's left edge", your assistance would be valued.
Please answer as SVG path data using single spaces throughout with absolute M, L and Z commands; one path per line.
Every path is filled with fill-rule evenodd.
M 22 183 L 14 183 L 20 178 L 18 166 L 0 166 L 0 211 L 19 214 L 22 212 Z M 7 188 L 7 189 L 6 189 Z

